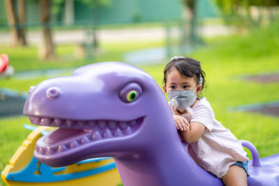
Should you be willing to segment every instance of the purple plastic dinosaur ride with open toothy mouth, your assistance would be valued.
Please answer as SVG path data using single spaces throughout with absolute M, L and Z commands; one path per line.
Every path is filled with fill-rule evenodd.
M 197 165 L 181 143 L 156 81 L 132 65 L 105 62 L 31 87 L 24 105 L 31 123 L 58 127 L 37 141 L 34 156 L 50 166 L 113 157 L 123 185 L 223 185 Z M 252 152 L 248 185 L 279 185 L 279 154 Z

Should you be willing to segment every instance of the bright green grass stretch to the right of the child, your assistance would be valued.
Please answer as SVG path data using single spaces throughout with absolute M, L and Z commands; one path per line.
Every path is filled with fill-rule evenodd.
M 206 97 L 219 121 L 239 139 L 252 141 L 260 157 L 279 153 L 279 118 L 252 113 L 227 113 L 237 104 L 279 100 L 278 83 L 243 81 L 237 75 L 278 73 L 279 24 L 247 36 L 222 38 L 211 49 L 190 56 L 199 59 L 206 72 Z

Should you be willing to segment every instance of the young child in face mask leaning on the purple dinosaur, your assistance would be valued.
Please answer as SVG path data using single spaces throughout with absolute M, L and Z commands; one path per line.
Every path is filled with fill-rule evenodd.
M 206 98 L 199 61 L 173 57 L 164 71 L 163 89 L 169 98 L 174 123 L 193 160 L 222 178 L 225 185 L 247 185 L 248 157 L 241 142 L 215 118 Z

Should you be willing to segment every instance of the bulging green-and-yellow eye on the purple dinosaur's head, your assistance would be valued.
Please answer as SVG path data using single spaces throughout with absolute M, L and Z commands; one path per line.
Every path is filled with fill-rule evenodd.
M 141 93 L 142 88 L 139 84 L 130 83 L 122 88 L 119 93 L 119 98 L 121 98 L 121 100 L 126 103 L 134 102 L 140 97 Z

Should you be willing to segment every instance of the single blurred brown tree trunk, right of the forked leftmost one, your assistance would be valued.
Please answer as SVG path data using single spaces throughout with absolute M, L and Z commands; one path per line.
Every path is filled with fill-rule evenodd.
M 43 24 L 43 52 L 41 59 L 55 59 L 52 29 L 50 27 L 51 0 L 40 0 L 40 22 Z

